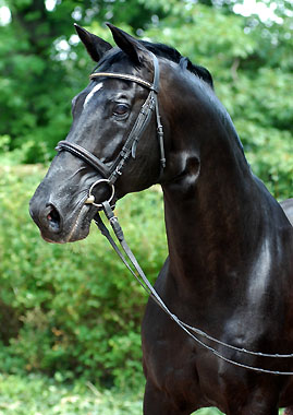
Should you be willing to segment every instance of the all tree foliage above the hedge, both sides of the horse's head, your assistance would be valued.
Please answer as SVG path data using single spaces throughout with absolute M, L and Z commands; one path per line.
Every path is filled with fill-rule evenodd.
M 207 67 L 253 169 L 276 197 L 291 195 L 293 37 L 288 1 L 273 3 L 282 24 L 236 15 L 235 2 L 224 0 L 66 0 L 53 10 L 39 0 L 5 3 L 12 13 L 0 32 L 0 137 L 9 137 L 4 146 L 0 139 L 0 158 L 5 164 L 52 157 L 70 129 L 71 98 L 86 86 L 94 66 L 76 44 L 73 22 L 113 43 L 103 25 L 108 20 L 174 46 Z

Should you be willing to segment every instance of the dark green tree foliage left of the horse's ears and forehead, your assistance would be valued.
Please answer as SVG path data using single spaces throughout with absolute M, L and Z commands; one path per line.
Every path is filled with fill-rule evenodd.
M 94 66 L 72 38 L 73 23 L 126 21 L 138 28 L 151 11 L 122 0 L 58 1 L 51 11 L 39 0 L 4 3 L 12 20 L 0 27 L 0 135 L 10 134 L 10 150 L 22 149 L 21 162 L 47 162 L 70 129 L 71 99 Z

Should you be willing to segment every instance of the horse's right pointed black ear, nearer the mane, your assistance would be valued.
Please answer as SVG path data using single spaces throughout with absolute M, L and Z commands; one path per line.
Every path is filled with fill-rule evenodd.
M 113 35 L 113 39 L 120 49 L 129 55 L 131 60 L 141 66 L 142 58 L 149 55 L 148 50 L 133 36 L 129 35 L 126 32 L 113 26 L 111 23 L 106 23 Z

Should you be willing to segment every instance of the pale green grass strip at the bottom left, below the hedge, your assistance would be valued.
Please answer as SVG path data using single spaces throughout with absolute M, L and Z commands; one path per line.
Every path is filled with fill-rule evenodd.
M 0 414 L 5 415 L 137 415 L 142 413 L 141 395 L 97 389 L 89 381 L 72 384 L 62 378 L 0 375 Z M 209 415 L 213 415 L 212 413 Z

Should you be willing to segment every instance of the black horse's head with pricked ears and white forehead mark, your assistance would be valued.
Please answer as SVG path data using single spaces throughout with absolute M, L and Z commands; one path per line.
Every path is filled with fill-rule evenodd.
M 73 98 L 71 130 L 30 200 L 32 217 L 42 237 L 53 242 L 85 238 L 100 202 L 114 203 L 162 178 L 157 58 L 146 43 L 110 24 L 114 48 L 75 27 L 98 66 L 86 88 Z M 162 70 L 160 73 L 163 78 Z M 159 95 L 166 100 L 163 93 Z M 161 115 L 164 119 L 163 105 Z

